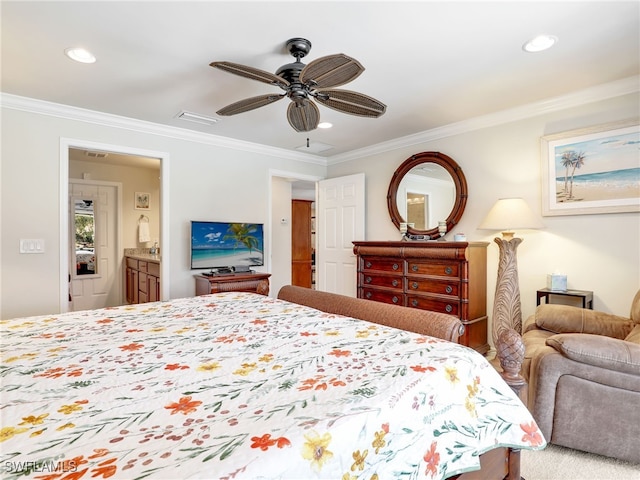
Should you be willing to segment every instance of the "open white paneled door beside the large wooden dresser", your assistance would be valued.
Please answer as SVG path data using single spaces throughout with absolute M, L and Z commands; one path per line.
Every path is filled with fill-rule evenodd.
M 357 296 L 353 241 L 365 240 L 364 173 L 318 182 L 318 290 Z

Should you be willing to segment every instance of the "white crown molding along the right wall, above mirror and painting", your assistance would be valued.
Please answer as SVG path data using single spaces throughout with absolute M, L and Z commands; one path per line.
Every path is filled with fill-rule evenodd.
M 494 127 L 509 122 L 515 122 L 526 118 L 544 115 L 550 112 L 579 107 L 588 103 L 619 97 L 640 91 L 640 76 L 628 77 L 615 82 L 610 82 L 595 87 L 559 97 L 530 103 L 521 107 L 502 110 L 500 112 L 470 118 L 461 122 L 444 125 L 442 127 L 425 130 L 424 132 L 405 137 L 396 138 L 388 142 L 382 142 L 369 147 L 352 150 L 343 154 L 337 154 L 328 158 L 328 165 L 348 162 L 362 157 L 369 157 L 380 153 L 387 153 L 400 148 L 426 143 L 441 138 L 451 137 L 482 128 Z

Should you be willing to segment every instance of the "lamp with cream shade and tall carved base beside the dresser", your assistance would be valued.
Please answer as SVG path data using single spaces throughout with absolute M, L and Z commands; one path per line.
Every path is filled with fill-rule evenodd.
M 520 286 L 518 282 L 518 259 L 516 250 L 522 242 L 514 237 L 515 229 L 538 229 L 544 225 L 522 198 L 501 198 L 489 210 L 478 227 L 481 230 L 499 230 L 502 238 L 494 241 L 500 248 L 496 295 L 493 301 L 492 338 L 497 344 L 504 330 L 513 329 L 522 333 L 520 310 Z

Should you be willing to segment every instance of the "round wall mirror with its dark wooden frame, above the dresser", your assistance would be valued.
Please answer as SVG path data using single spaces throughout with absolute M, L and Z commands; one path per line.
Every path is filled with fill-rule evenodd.
M 450 232 L 467 204 L 467 180 L 460 166 L 440 152 L 412 155 L 391 178 L 387 205 L 393 224 L 407 223 L 407 233 L 437 239 L 438 222 Z

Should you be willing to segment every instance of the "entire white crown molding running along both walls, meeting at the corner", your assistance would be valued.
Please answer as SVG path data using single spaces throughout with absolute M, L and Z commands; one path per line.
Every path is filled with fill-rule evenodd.
M 392 150 L 417 145 L 441 138 L 472 132 L 482 128 L 502 125 L 526 118 L 544 115 L 546 113 L 564 110 L 580 105 L 593 103 L 608 98 L 618 97 L 640 91 L 640 76 L 633 76 L 615 82 L 598 85 L 559 97 L 550 98 L 521 107 L 516 107 L 500 112 L 470 118 L 461 122 L 444 125 L 442 127 L 425 130 L 424 132 L 396 138 L 388 142 L 382 142 L 350 152 L 321 157 L 309 153 L 294 152 L 283 148 L 270 147 L 258 143 L 235 140 L 210 133 L 195 132 L 179 127 L 160 125 L 157 123 L 121 117 L 104 112 L 97 112 L 78 107 L 71 107 L 53 102 L 46 102 L 28 97 L 20 97 L 0 92 L 0 105 L 5 108 L 22 110 L 26 112 L 50 115 L 69 120 L 77 120 L 97 125 L 114 128 L 122 128 L 134 132 L 159 135 L 163 137 L 185 140 L 188 142 L 203 143 L 218 147 L 240 150 L 243 152 L 268 155 L 286 160 L 295 160 L 316 165 L 334 165 L 338 163 L 356 160 L 362 157 L 386 153 Z

